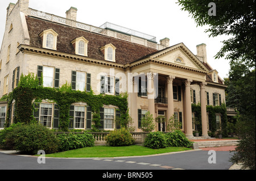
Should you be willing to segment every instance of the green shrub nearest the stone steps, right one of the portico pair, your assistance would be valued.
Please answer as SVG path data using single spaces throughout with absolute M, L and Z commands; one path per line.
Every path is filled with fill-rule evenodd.
M 187 148 L 192 146 L 192 142 L 189 141 L 185 134 L 180 130 L 175 130 L 174 132 L 166 133 L 165 136 L 167 146 Z

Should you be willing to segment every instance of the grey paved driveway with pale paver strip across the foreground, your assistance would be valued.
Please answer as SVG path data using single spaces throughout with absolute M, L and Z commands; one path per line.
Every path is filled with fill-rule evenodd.
M 208 163 L 210 156 L 208 151 L 192 150 L 143 157 L 46 158 L 45 164 L 39 164 L 38 157 L 0 153 L 0 170 L 228 170 L 232 166 L 230 151 L 216 151 L 216 163 Z

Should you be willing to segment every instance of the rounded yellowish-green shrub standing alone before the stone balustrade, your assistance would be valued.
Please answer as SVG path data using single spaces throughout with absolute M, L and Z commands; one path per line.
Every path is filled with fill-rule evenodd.
M 133 135 L 125 128 L 115 129 L 106 136 L 105 140 L 110 146 L 129 146 L 135 142 Z

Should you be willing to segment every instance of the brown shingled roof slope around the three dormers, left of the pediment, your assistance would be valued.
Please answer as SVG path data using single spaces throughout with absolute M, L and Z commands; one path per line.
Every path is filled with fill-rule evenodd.
M 88 43 L 88 57 L 97 60 L 104 60 L 104 54 L 99 48 L 106 44 L 112 43 L 115 50 L 115 62 L 117 64 L 127 64 L 138 60 L 147 54 L 157 52 L 158 50 L 144 47 L 143 45 L 130 43 L 127 41 L 114 39 L 112 37 L 99 35 L 97 33 L 92 33 L 77 28 L 72 28 L 64 26 L 57 23 L 48 22 L 46 20 L 33 18 L 28 16 L 27 18 L 28 32 L 30 35 L 30 45 L 36 48 L 42 48 L 42 39 L 40 38 L 40 32 L 52 28 L 56 31 L 59 36 L 57 37 L 57 51 L 75 54 L 75 49 L 73 48 L 71 41 L 77 37 L 84 36 Z

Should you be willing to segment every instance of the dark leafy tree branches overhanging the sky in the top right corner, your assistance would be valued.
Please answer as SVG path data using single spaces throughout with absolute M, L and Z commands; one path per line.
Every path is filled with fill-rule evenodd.
M 255 67 L 255 0 L 178 0 L 197 26 L 209 25 L 209 36 L 230 35 L 216 58 L 243 60 Z M 214 3 L 214 4 L 213 4 Z M 213 6 L 214 5 L 214 6 Z M 216 11 L 216 14 L 211 13 Z

